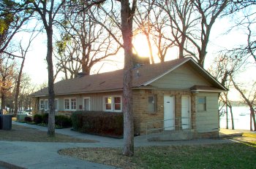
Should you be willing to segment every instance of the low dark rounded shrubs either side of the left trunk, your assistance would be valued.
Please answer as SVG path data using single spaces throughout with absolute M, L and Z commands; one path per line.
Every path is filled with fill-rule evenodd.
M 39 123 L 48 124 L 48 117 L 49 117 L 48 114 L 34 114 L 34 122 L 36 124 L 39 124 Z M 72 122 L 69 117 L 66 117 L 64 115 L 56 115 L 55 125 L 58 125 L 59 127 L 71 127 Z

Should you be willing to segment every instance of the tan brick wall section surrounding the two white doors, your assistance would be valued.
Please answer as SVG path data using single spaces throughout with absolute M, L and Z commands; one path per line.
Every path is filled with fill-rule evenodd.
M 154 113 L 148 112 L 148 96 L 157 96 L 157 111 Z M 164 119 L 164 95 L 173 95 L 175 98 L 175 117 L 181 117 L 181 96 L 189 95 L 191 98 L 191 115 L 192 127 L 195 127 L 195 95 L 189 91 L 178 90 L 134 90 L 133 91 L 133 109 L 135 118 L 135 133 L 145 134 L 147 122 L 148 128 L 162 128 Z M 180 124 L 180 120 L 176 120 L 176 125 Z M 176 128 L 178 130 L 178 128 Z M 162 129 L 161 129 L 162 130 Z M 156 130 L 158 132 L 159 130 Z

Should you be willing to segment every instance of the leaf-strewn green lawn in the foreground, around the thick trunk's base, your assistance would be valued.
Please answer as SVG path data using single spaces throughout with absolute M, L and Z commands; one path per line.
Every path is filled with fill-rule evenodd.
M 256 138 L 255 135 L 250 135 Z M 121 149 L 63 149 L 59 154 L 121 168 L 256 168 L 256 143 L 201 146 L 149 146 L 135 148 L 134 157 Z

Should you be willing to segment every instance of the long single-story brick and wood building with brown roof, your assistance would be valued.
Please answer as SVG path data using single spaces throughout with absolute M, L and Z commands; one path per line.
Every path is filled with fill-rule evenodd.
M 122 112 L 123 70 L 78 76 L 54 84 L 56 113 Z M 192 58 L 147 64 L 133 69 L 135 133 L 193 130 L 219 134 L 218 95 L 227 89 Z M 48 88 L 37 91 L 34 113 L 48 111 Z

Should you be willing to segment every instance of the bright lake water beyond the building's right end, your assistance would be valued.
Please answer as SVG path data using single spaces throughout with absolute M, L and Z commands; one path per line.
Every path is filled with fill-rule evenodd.
M 247 106 L 233 106 L 233 118 L 235 129 L 249 130 L 250 111 Z M 226 128 L 226 114 L 219 119 L 219 126 Z M 230 111 L 228 110 L 228 128 L 232 128 Z M 253 127 L 254 128 L 254 127 Z

